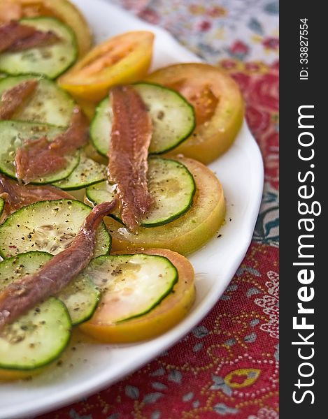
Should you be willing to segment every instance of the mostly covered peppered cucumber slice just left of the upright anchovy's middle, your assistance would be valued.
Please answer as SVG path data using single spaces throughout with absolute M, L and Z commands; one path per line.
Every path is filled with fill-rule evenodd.
M 71 191 L 101 182 L 106 179 L 106 177 L 107 166 L 97 163 L 97 161 L 89 159 L 85 153 L 81 153 L 80 163 L 78 163 L 76 169 L 71 172 L 71 175 L 66 177 L 66 179 L 55 182 L 53 185 L 57 186 L 57 188 L 64 189 L 64 191 Z

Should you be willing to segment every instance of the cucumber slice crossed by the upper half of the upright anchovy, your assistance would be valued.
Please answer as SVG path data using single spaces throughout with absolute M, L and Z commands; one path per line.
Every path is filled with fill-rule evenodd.
M 152 117 L 152 141 L 150 154 L 162 154 L 177 147 L 194 130 L 194 108 L 178 92 L 159 84 L 137 83 L 138 91 Z M 100 154 L 108 154 L 112 110 L 109 98 L 99 103 L 90 127 L 94 147 Z

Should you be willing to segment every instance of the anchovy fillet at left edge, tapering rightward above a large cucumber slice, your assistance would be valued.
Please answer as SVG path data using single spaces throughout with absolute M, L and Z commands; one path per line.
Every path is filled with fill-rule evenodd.
M 26 205 L 37 203 L 41 200 L 57 200 L 62 198 L 72 199 L 73 197 L 50 185 L 20 185 L 12 179 L 0 175 L 0 198 L 5 200 L 3 213 L 0 222 L 6 216 L 19 210 Z

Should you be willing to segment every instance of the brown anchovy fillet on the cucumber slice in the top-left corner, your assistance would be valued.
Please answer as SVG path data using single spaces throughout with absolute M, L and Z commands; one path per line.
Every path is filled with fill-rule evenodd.
M 39 31 L 20 22 L 7 22 L 0 26 L 0 52 L 23 51 L 57 43 L 60 38 L 52 31 Z

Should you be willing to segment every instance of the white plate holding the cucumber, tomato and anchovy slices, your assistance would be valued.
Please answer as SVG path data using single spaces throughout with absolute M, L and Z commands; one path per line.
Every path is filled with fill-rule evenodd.
M 97 43 L 124 31 L 148 29 L 156 34 L 153 68 L 199 61 L 166 31 L 104 0 L 74 3 L 90 22 Z M 197 301 L 187 318 L 164 335 L 141 344 L 78 344 L 76 351 L 66 351 L 62 367 L 48 369 L 32 381 L 1 384 L 1 419 L 40 414 L 105 388 L 172 346 L 211 310 L 245 256 L 262 198 L 262 156 L 245 123 L 229 152 L 210 167 L 224 188 L 227 223 L 220 230 L 220 239 L 213 238 L 190 257 L 197 278 Z

